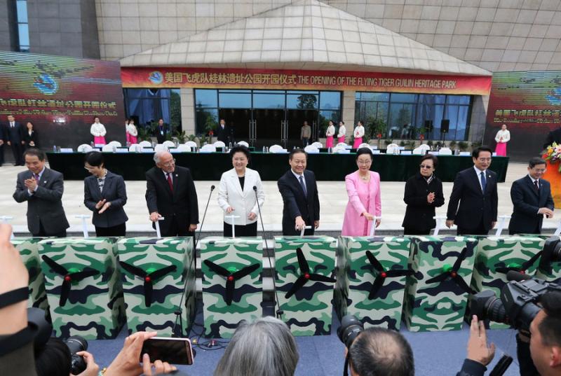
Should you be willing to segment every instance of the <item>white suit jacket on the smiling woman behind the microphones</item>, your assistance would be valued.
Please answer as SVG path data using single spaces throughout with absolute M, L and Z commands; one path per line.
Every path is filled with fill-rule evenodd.
M 250 213 L 255 213 L 259 216 L 259 208 L 257 207 L 257 201 L 255 200 L 253 186 L 257 187 L 259 206 L 261 207 L 261 210 L 263 210 L 265 193 L 263 191 L 259 172 L 254 169 L 245 168 L 243 191 L 241 190 L 240 180 L 238 179 L 238 174 L 236 174 L 236 169 L 233 168 L 224 172 L 220 178 L 218 205 L 222 208 L 222 210 L 224 210 L 224 216 L 226 215 L 226 209 L 228 209 L 228 207 L 234 208 L 234 211 L 232 211 L 231 214 L 234 214 L 234 216 L 240 216 L 240 218 L 234 219 L 234 224 L 236 225 L 248 225 L 257 221 L 257 217 L 254 221 L 250 221 L 248 219 L 248 215 Z M 224 222 L 229 225 L 232 224 L 231 218 L 224 218 Z

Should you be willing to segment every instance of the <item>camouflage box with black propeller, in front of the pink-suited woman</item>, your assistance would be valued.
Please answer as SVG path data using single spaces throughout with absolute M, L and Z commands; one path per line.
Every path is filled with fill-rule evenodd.
M 407 237 L 339 237 L 334 298 L 339 320 L 353 314 L 365 328 L 399 330 L 409 253 Z

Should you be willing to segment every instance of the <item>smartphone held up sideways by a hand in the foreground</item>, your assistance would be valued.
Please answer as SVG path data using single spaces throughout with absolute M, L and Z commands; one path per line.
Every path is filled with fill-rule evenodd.
M 142 344 L 142 355 L 148 354 L 150 361 L 167 361 L 170 364 L 193 364 L 193 349 L 189 338 L 151 337 Z

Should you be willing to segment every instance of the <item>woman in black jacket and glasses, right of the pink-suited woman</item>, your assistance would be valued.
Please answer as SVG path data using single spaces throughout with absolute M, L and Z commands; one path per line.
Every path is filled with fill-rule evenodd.
M 433 219 L 435 207 L 444 204 L 442 181 L 434 174 L 437 165 L 438 158 L 432 154 L 425 155 L 421 158 L 420 172 L 405 183 L 403 201 L 407 209 L 402 224 L 405 235 L 428 235 L 436 226 Z

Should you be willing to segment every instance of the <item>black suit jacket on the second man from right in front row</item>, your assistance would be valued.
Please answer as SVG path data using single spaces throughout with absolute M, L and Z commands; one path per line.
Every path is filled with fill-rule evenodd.
M 487 179 L 485 193 L 481 191 L 479 179 L 473 167 L 458 172 L 454 179 L 446 217 L 453 220 L 459 228 L 475 230 L 482 221 L 483 228 L 490 230 L 491 222 L 496 222 L 496 210 L 499 204 L 496 174 L 490 169 L 485 171 L 485 179 Z

